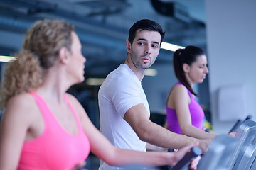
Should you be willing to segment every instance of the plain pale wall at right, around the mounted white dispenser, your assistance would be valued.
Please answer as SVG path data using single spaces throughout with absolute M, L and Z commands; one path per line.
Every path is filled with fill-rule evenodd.
M 256 119 L 255 17 L 255 0 L 206 0 L 210 104 L 216 133 L 228 132 L 235 123 L 218 118 L 218 89 L 221 86 L 242 84 L 245 114 Z

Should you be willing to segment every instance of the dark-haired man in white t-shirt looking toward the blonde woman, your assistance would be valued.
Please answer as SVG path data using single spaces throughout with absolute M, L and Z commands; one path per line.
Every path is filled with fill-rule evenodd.
M 198 140 L 174 132 L 149 120 L 149 103 L 141 81 L 146 69 L 154 64 L 164 38 L 161 26 L 151 20 L 140 20 L 129 30 L 127 59 L 111 72 L 98 98 L 100 130 L 116 147 L 146 151 L 146 142 L 159 147 L 181 149 L 199 142 L 206 151 L 210 140 Z M 100 170 L 122 169 L 101 161 Z

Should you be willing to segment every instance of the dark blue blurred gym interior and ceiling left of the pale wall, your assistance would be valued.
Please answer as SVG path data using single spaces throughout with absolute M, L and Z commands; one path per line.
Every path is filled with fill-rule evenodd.
M 157 21 L 166 31 L 164 42 L 196 45 L 206 51 L 203 0 L 1 0 L 0 8 L 0 55 L 18 51 L 26 30 L 36 20 L 58 18 L 75 25 L 87 62 L 85 82 L 69 92 L 79 99 L 97 127 L 97 91 L 107 74 L 124 62 L 125 41 L 134 22 L 143 18 Z M 169 88 L 176 82 L 172 55 L 172 51 L 161 49 L 151 73 L 142 81 L 149 91 L 152 113 L 164 112 Z M 3 70 L 4 63 L 1 67 Z M 208 105 L 207 82 L 200 89 L 204 89 L 202 101 Z

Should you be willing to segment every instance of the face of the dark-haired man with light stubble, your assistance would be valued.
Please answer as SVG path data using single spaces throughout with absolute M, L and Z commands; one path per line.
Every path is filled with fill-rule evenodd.
M 157 31 L 137 30 L 129 53 L 137 69 L 148 69 L 159 55 L 161 35 Z

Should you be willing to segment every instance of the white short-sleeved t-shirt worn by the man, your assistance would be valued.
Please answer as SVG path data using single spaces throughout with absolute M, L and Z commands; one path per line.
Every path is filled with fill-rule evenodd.
M 127 64 L 120 64 L 111 72 L 99 94 L 100 131 L 115 147 L 146 151 L 146 142 L 139 140 L 132 127 L 124 120 L 124 114 L 139 103 L 149 111 L 149 103 L 142 88 L 141 81 Z M 101 161 L 100 170 L 119 169 L 108 166 Z

